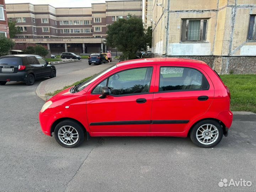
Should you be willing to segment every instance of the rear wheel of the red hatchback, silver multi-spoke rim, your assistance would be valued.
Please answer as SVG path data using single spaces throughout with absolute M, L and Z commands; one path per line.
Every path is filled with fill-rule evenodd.
M 208 127 L 207 127 L 207 124 L 209 124 Z M 210 126 L 210 125 L 212 125 L 212 126 Z M 207 129 L 207 130 L 205 130 L 205 129 Z M 218 137 L 217 137 L 217 130 L 216 129 L 218 130 Z M 209 132 L 209 130 L 211 130 L 211 131 Z M 213 131 L 213 130 L 215 130 L 215 131 Z M 197 132 L 200 133 L 199 135 L 202 134 L 202 137 L 199 136 L 200 138 L 197 139 L 197 136 L 196 136 Z M 206 135 L 207 133 L 208 133 L 208 135 Z M 215 139 L 213 137 L 210 137 L 212 134 L 215 136 Z M 214 120 L 210 120 L 210 119 L 206 119 L 206 120 L 198 122 L 197 124 L 195 124 L 192 127 L 191 132 L 190 132 L 190 138 L 191 138 L 192 142 L 195 145 L 197 145 L 199 147 L 202 147 L 202 148 L 212 148 L 213 146 L 217 145 L 222 140 L 222 137 L 223 137 L 222 126 L 220 125 L 219 122 L 214 121 Z M 210 138 L 211 140 L 210 139 L 206 140 L 207 138 Z M 199 140 L 202 143 L 199 142 Z M 206 144 L 206 142 L 208 144 Z

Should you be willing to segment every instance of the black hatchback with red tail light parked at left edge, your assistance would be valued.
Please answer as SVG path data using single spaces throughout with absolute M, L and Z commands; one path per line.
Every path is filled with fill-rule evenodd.
M 0 57 L 0 85 L 5 85 L 7 81 L 23 81 L 27 85 L 33 85 L 36 79 L 55 76 L 55 66 L 38 55 Z

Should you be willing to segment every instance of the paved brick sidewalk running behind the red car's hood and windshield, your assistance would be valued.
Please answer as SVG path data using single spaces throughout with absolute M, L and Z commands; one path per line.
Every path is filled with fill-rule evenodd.
M 77 81 L 81 81 L 87 77 L 98 74 L 104 69 L 112 66 L 113 64 L 95 65 L 87 69 L 82 69 L 74 71 L 72 73 L 68 73 L 66 75 L 57 76 L 53 79 L 47 79 L 45 81 L 42 81 L 38 85 L 36 89 L 36 94 L 38 97 L 42 98 L 43 100 L 46 100 L 46 93 L 54 92 L 56 90 L 62 89 L 65 86 L 72 85 Z

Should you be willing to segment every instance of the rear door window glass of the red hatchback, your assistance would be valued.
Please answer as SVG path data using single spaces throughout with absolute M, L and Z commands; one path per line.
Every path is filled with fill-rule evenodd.
M 196 69 L 161 67 L 159 91 L 207 90 L 206 77 Z

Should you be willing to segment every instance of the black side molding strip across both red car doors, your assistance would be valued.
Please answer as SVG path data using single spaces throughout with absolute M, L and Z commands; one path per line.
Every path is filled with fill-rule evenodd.
M 184 124 L 189 120 L 155 120 L 155 121 L 110 121 L 110 122 L 98 122 L 90 123 L 90 126 L 100 125 L 141 125 L 141 124 Z

